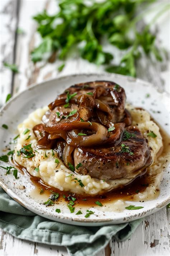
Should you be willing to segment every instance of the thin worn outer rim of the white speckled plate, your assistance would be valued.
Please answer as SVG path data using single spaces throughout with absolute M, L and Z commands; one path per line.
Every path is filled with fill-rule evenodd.
M 9 107 L 10 107 L 10 104 L 16 100 L 18 97 L 22 96 L 22 94 L 25 94 L 27 93 L 27 91 L 29 90 L 33 90 L 35 87 L 37 86 L 42 86 L 48 82 L 52 82 L 52 81 L 60 81 L 60 80 L 64 80 L 66 78 L 74 78 L 74 77 L 81 77 L 81 76 L 87 76 L 87 77 L 91 77 L 91 76 L 96 76 L 96 77 L 101 77 L 101 76 L 108 76 L 108 80 L 109 80 L 109 77 L 112 77 L 113 79 L 114 78 L 126 78 L 128 80 L 131 80 L 133 82 L 139 82 L 139 83 L 142 83 L 142 84 L 145 84 L 147 86 L 152 86 L 156 91 L 157 93 L 159 94 L 164 94 L 165 97 L 169 98 L 169 94 L 166 92 L 166 91 L 159 91 L 159 88 L 157 88 L 156 86 L 154 86 L 154 84 L 150 83 L 150 82 L 147 82 L 147 81 L 144 81 L 140 78 L 134 78 L 134 77 L 130 77 L 130 76 L 124 76 L 124 75 L 119 75 L 119 74 L 115 74 L 115 73 L 107 73 L 107 72 L 102 72 L 102 73 L 75 73 L 75 74 L 70 74 L 70 75 L 65 75 L 65 76 L 60 76 L 60 77 L 56 77 L 56 78 L 49 78 L 47 80 L 44 80 L 42 82 L 37 82 L 37 83 L 34 83 L 32 85 L 30 85 L 29 87 L 27 87 L 25 90 L 21 91 L 21 92 L 18 92 L 16 93 L 14 96 L 12 96 L 8 102 L 6 102 L 6 104 L 0 109 L 0 116 L 3 115 L 3 112 L 6 111 Z M 97 81 L 97 80 L 96 80 Z M 14 192 L 9 189 L 4 183 L 3 181 L 1 180 L 0 178 L 0 185 L 1 187 L 5 190 L 6 193 L 9 194 L 9 196 L 11 196 L 16 202 L 20 203 L 20 205 L 24 206 L 25 208 L 27 208 L 28 210 L 31 210 L 32 212 L 34 212 L 35 214 L 38 214 L 42 217 L 46 217 L 48 219 L 51 219 L 51 220 L 55 220 L 55 221 L 59 221 L 59 222 L 62 222 L 62 221 L 66 221 L 69 220 L 69 222 L 76 222 L 74 223 L 74 225 L 83 225 L 84 224 L 100 224 L 101 223 L 104 223 L 105 225 L 109 225 L 111 223 L 125 223 L 125 222 L 128 222 L 128 221 L 132 221 L 132 220 L 135 220 L 135 219 L 140 219 L 141 217 L 144 217 L 144 216 L 147 216 L 149 214 L 152 214 L 158 210 L 160 210 L 162 207 L 166 206 L 167 203 L 170 202 L 170 196 L 167 197 L 164 201 L 160 202 L 160 203 L 157 203 L 154 207 L 152 207 L 151 209 L 148 209 L 146 211 L 143 211 L 141 210 L 141 212 L 138 212 L 135 213 L 135 212 L 131 212 L 131 214 L 129 216 L 125 216 L 124 218 L 121 216 L 121 217 L 116 217 L 116 219 L 111 218 L 111 219 L 97 219 L 97 218 L 93 218 L 93 219 L 82 219 L 82 218 L 76 218 L 76 216 L 63 216 L 63 215 L 57 215 L 57 216 L 47 216 L 47 214 L 44 213 L 42 214 L 41 213 L 41 210 L 39 209 L 36 209 L 34 208 L 34 206 L 32 206 L 32 204 L 28 204 L 27 201 L 24 199 L 24 198 L 20 198 L 17 194 L 15 194 L 15 197 L 14 197 Z M 22 200 L 22 202 L 20 201 Z M 29 207 L 29 208 L 28 208 Z M 67 222 L 68 223 L 68 222 Z

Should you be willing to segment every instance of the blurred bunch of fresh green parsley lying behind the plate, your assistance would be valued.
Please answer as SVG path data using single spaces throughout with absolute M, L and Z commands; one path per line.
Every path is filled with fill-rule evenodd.
M 108 72 L 136 76 L 135 62 L 141 57 L 142 51 L 162 60 L 155 45 L 156 35 L 150 32 L 150 26 L 169 9 L 169 5 L 164 6 L 142 31 L 137 30 L 137 22 L 154 1 L 105 0 L 100 3 L 90 1 L 86 5 L 84 0 L 60 0 L 58 13 L 49 15 L 44 10 L 33 17 L 38 23 L 37 31 L 42 42 L 32 51 L 32 61 L 51 59 L 50 56 L 56 52 L 57 58 L 65 60 L 75 48 L 89 62 L 96 65 L 111 64 L 114 49 L 112 52 L 103 50 L 101 42 L 106 40 L 116 48 L 126 50 L 126 53 L 118 65 L 112 64 L 105 69 Z

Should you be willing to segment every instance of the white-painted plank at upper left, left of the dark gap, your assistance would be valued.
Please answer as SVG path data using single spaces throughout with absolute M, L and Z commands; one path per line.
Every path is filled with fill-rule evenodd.
M 11 93 L 13 73 L 3 66 L 14 62 L 15 30 L 18 22 L 18 1 L 3 0 L 0 4 L 0 106 Z

